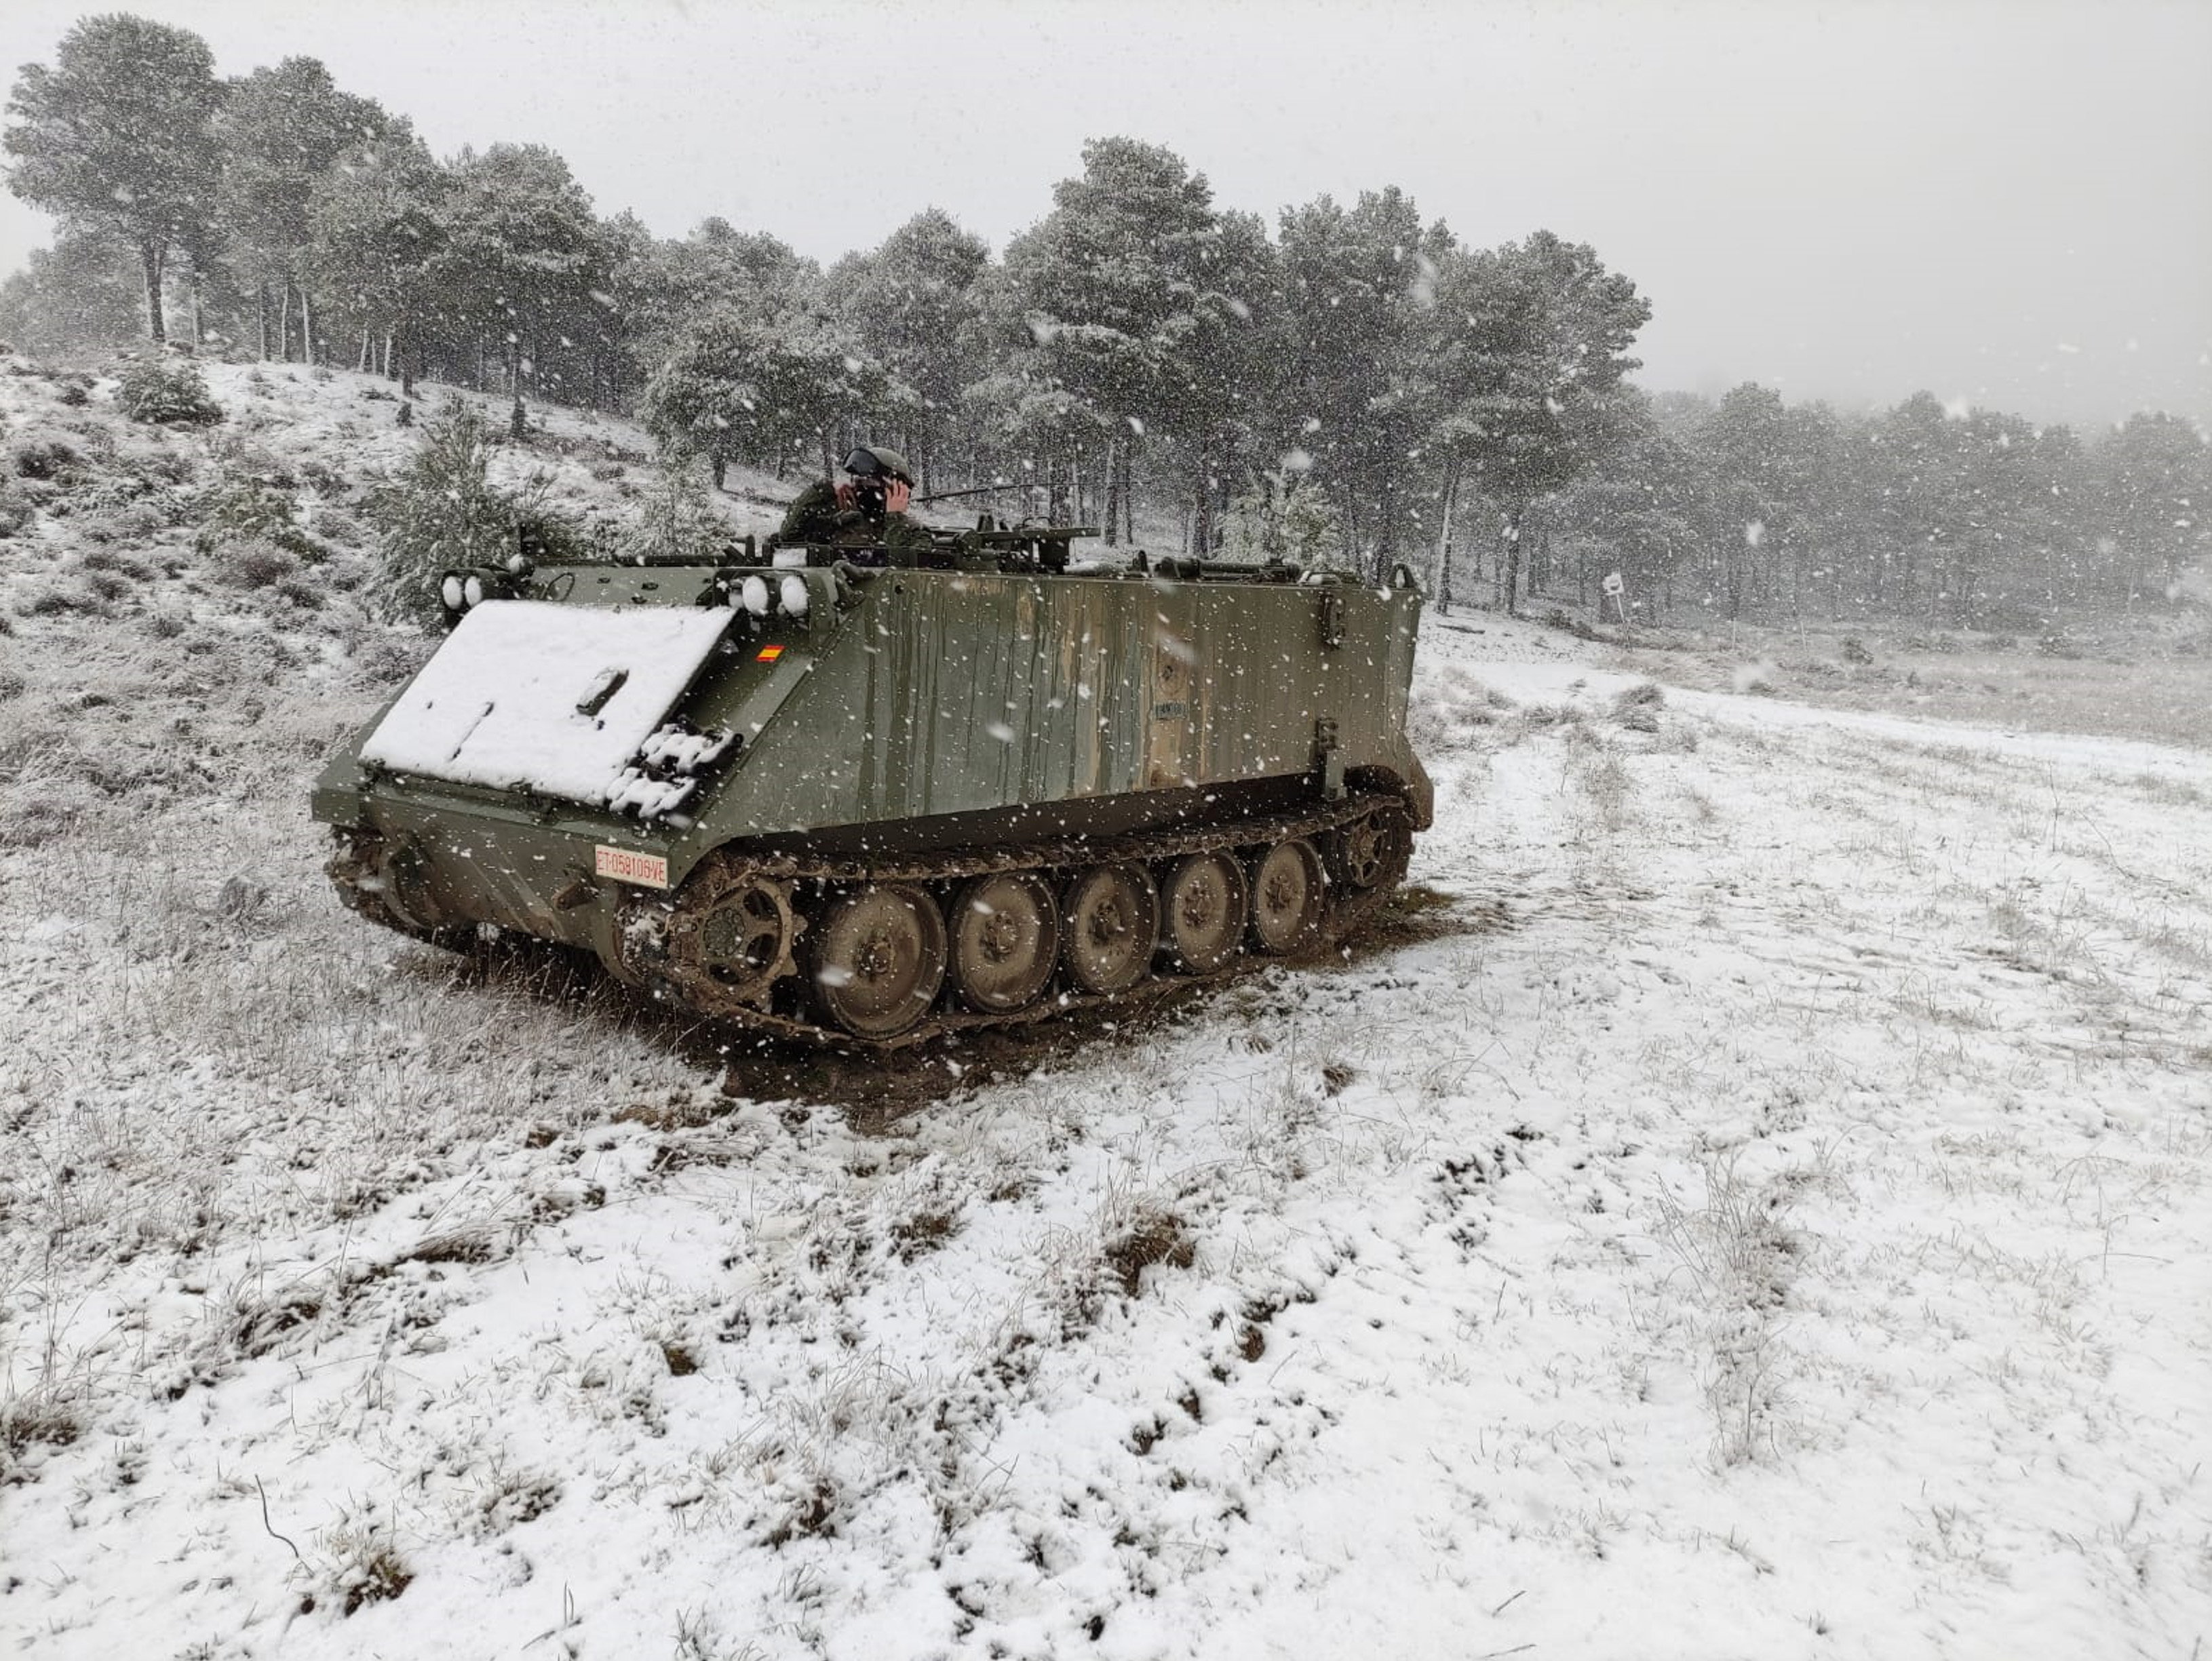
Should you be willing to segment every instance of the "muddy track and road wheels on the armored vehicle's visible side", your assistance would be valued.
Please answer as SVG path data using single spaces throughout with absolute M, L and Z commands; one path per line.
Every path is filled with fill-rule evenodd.
M 624 969 L 732 1026 L 905 1048 L 1230 980 L 1347 938 L 1405 878 L 1402 803 L 905 860 L 721 849 L 622 918 Z

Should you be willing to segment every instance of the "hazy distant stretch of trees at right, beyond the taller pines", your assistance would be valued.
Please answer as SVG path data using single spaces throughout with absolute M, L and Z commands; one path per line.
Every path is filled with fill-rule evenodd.
M 2205 438 L 2177 416 L 2084 438 L 1927 391 L 1838 414 L 1741 385 L 1646 400 L 1544 518 L 1577 584 L 1601 555 L 1648 615 L 2046 633 L 2081 608 L 2201 599 L 2208 495 Z

